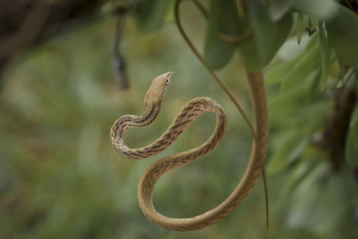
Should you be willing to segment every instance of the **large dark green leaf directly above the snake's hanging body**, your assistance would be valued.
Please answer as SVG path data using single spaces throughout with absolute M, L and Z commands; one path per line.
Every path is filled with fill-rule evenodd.
M 249 3 L 249 21 L 252 38 L 239 45 L 246 66 L 252 72 L 259 71 L 276 55 L 285 42 L 292 27 L 292 14 L 286 13 L 281 20 L 274 22 L 269 18 L 267 7 L 259 0 Z

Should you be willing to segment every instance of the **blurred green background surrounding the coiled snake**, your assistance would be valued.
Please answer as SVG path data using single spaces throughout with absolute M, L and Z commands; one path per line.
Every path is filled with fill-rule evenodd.
M 185 28 L 201 49 L 206 22 L 190 4 L 183 4 L 182 11 Z M 214 115 L 202 115 L 156 157 L 132 160 L 119 155 L 109 141 L 110 127 L 121 115 L 144 112 L 144 95 L 154 77 L 175 72 L 158 120 L 131 130 L 125 138 L 129 146 L 156 140 L 185 102 L 200 96 L 220 102 L 229 123 L 225 140 L 209 156 L 158 181 L 154 202 L 162 214 L 192 217 L 225 200 L 241 180 L 252 137 L 174 23 L 142 36 L 132 20 L 126 21 L 121 49 L 131 88 L 120 90 L 111 63 L 114 31 L 115 19 L 110 18 L 65 33 L 20 55 L 4 73 L 0 238 L 358 237 L 357 180 L 346 168 L 333 172 L 325 152 L 309 143 L 325 124 L 332 99 L 320 92 L 311 104 L 300 89 L 287 99 L 278 96 L 273 83 L 268 85 L 269 228 L 261 179 L 243 204 L 214 226 L 179 233 L 150 223 L 136 198 L 141 174 L 158 158 L 206 141 L 215 127 Z M 281 48 L 265 75 L 307 46 L 291 45 Z M 251 115 L 239 55 L 218 74 Z

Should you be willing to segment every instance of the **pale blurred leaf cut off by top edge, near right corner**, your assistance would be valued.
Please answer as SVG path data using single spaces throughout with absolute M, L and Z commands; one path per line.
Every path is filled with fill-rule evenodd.
M 328 19 L 335 12 L 335 0 L 288 0 L 295 9 L 319 20 Z

